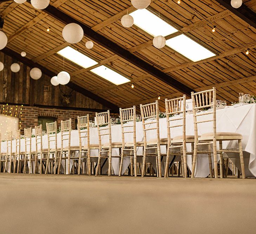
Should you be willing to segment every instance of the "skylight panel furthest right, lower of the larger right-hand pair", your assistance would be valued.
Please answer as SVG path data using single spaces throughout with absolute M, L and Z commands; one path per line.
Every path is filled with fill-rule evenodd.
M 193 62 L 208 59 L 216 55 L 184 34 L 166 40 L 166 45 Z

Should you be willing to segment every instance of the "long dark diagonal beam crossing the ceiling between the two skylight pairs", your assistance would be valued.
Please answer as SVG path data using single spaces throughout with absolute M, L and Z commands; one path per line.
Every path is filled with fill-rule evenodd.
M 163 73 L 159 69 L 153 67 L 149 63 L 145 62 L 144 60 L 138 58 L 137 56 L 133 55 L 123 47 L 117 45 L 113 41 L 105 38 L 103 35 L 93 31 L 90 27 L 84 25 L 83 23 L 79 22 L 78 20 L 72 18 L 71 16 L 61 12 L 59 9 L 49 5 L 46 9 L 43 10 L 44 12 L 50 14 L 55 19 L 63 22 L 64 24 L 76 23 L 79 24 L 85 33 L 85 36 L 90 38 L 91 40 L 95 41 L 99 45 L 109 49 L 111 52 L 117 54 L 121 58 L 125 59 L 126 61 L 132 63 L 133 65 L 139 67 L 140 69 L 144 70 L 145 72 L 149 73 L 150 75 L 154 76 L 155 78 L 163 81 L 167 85 L 177 89 L 180 92 L 183 92 L 187 95 L 190 95 L 191 88 L 185 86 L 183 83 L 177 81 L 175 78 L 171 77 L 168 74 Z

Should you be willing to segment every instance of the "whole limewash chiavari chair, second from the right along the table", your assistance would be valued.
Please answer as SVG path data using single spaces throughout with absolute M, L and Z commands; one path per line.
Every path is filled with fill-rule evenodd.
M 182 173 L 183 177 L 187 177 L 186 173 L 186 140 L 194 139 L 194 136 L 186 136 L 186 95 L 183 95 L 181 98 L 175 99 L 165 99 L 165 111 L 166 111 L 166 124 L 167 124 L 167 153 L 166 153 L 166 163 L 165 163 L 165 171 L 164 177 L 168 177 L 169 171 L 169 156 L 172 155 L 180 155 L 180 159 L 182 162 Z M 170 118 L 170 115 L 173 114 L 182 114 L 182 116 L 177 116 L 177 118 Z M 177 124 L 176 121 L 182 120 L 181 124 Z M 171 124 L 173 123 L 173 124 Z M 171 138 L 171 132 L 173 128 L 182 127 L 182 135 L 176 136 L 175 138 Z M 180 151 L 171 152 L 171 149 L 180 149 Z

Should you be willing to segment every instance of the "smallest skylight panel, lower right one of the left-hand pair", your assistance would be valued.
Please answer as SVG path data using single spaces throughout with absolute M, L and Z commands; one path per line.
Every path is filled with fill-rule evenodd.
M 93 68 L 91 72 L 104 78 L 105 80 L 110 81 L 111 83 L 114 83 L 115 85 L 122 85 L 124 83 L 130 82 L 130 80 L 127 79 L 126 77 L 120 75 L 117 72 L 114 72 L 113 70 L 103 65 Z

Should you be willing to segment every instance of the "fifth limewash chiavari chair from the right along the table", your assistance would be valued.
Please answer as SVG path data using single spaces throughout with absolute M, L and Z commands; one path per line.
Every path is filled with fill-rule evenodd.
M 107 112 L 95 113 L 96 121 L 97 121 L 97 128 L 98 128 L 98 136 L 99 136 L 99 158 L 96 168 L 96 175 L 99 173 L 100 168 L 100 160 L 101 158 L 108 158 L 109 160 L 109 169 L 108 175 L 111 175 L 111 159 L 112 159 L 112 148 L 122 148 L 122 142 L 112 142 L 111 136 L 111 117 L 109 110 Z M 100 127 L 101 125 L 106 125 L 105 127 Z M 103 131 L 103 133 L 102 133 Z M 105 133 L 106 132 L 106 133 Z M 104 136 L 109 136 L 109 141 L 102 145 L 102 138 Z M 101 153 L 107 153 L 107 156 L 101 155 Z M 115 157 L 116 158 L 116 157 Z M 120 156 L 118 156 L 120 158 Z

